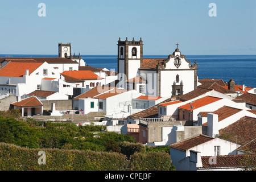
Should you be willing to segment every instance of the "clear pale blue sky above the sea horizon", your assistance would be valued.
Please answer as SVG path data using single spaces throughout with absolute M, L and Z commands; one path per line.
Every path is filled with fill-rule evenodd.
M 256 55 L 255 8 L 254 0 L 0 0 L 0 54 L 56 55 L 59 42 L 71 42 L 72 53 L 116 55 L 130 19 L 144 55 L 169 55 L 176 43 L 184 55 Z

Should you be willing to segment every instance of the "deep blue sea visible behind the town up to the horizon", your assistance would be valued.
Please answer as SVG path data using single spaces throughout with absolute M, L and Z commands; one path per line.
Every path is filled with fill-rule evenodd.
M 57 57 L 57 55 L 3 55 L 0 57 Z M 86 65 L 117 71 L 117 55 L 81 55 Z M 167 58 L 168 55 L 143 55 L 143 58 Z M 200 79 L 233 78 L 236 84 L 256 88 L 256 55 L 186 55 L 191 64 L 198 65 Z

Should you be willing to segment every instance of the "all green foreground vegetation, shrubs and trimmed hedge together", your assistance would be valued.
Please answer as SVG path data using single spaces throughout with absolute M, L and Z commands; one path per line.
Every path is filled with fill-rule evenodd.
M 175 169 L 169 147 L 148 148 L 130 135 L 101 132 L 102 126 L 23 121 L 15 110 L 0 114 L 0 170 Z

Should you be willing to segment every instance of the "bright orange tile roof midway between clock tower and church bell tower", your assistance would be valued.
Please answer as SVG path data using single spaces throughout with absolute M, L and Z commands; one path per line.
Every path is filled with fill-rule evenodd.
M 81 80 L 101 80 L 101 78 L 92 71 L 64 71 L 61 75 L 67 75 Z

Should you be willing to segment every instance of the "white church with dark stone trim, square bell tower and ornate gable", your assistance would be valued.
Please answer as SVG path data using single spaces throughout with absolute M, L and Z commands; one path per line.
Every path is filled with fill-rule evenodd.
M 143 41 L 118 40 L 118 80 L 126 89 L 145 96 L 174 97 L 197 88 L 197 64 L 177 48 L 167 58 L 144 59 Z

